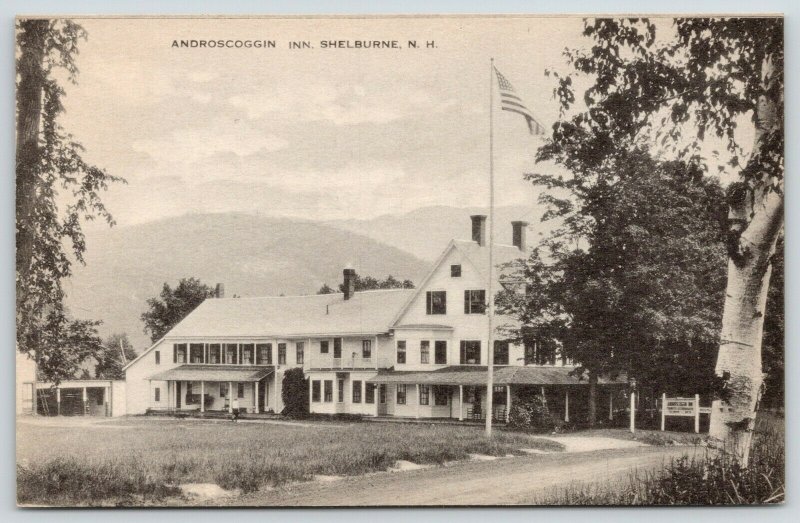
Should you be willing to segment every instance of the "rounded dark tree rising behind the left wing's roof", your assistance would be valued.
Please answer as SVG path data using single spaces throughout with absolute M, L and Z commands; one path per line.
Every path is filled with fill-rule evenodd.
M 173 289 L 164 283 L 159 297 L 147 300 L 148 310 L 142 313 L 144 332 L 154 343 L 203 303 L 213 298 L 214 288 L 197 278 L 182 278 Z

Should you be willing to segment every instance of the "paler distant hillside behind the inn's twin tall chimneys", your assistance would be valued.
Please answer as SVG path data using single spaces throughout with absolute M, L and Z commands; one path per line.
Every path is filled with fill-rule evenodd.
M 487 213 L 486 208 L 436 206 L 370 220 L 336 220 L 327 223 L 397 247 L 423 260 L 435 260 L 451 239 L 471 238 L 470 215 Z M 528 228 L 528 245 L 538 243 L 541 235 L 547 235 L 551 227 L 550 224 L 539 222 L 541 215 L 542 209 L 536 205 L 498 207 L 496 241 L 511 244 L 511 221 L 524 220 L 531 224 Z

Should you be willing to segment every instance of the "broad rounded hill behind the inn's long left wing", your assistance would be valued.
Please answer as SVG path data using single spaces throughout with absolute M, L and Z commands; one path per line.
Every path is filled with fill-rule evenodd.
M 139 317 L 164 282 L 194 276 L 225 284 L 227 296 L 313 294 L 335 287 L 342 269 L 419 283 L 429 265 L 355 232 L 316 222 L 243 214 L 186 215 L 113 228 L 87 237 L 86 266 L 75 266 L 67 305 L 78 318 L 101 319 L 103 336 L 127 332 L 149 345 Z M 441 248 L 440 244 L 438 248 Z

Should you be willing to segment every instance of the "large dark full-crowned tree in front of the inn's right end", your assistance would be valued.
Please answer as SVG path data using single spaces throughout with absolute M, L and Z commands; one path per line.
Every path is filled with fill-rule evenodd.
M 587 374 L 589 423 L 599 375 L 625 372 L 663 391 L 675 390 L 678 373 L 678 386 L 708 382 L 724 288 L 719 184 L 640 150 L 569 179 L 529 178 L 546 187 L 545 218 L 563 225 L 546 258 L 537 249 L 512 265 L 508 281 L 527 292 L 509 286 L 498 306 L 520 320 L 526 345 L 558 346 Z

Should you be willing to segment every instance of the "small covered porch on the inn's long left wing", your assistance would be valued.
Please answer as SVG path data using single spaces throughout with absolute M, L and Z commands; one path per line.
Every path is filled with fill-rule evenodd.
M 280 400 L 272 366 L 187 364 L 148 382 L 150 411 L 257 414 L 274 412 Z

